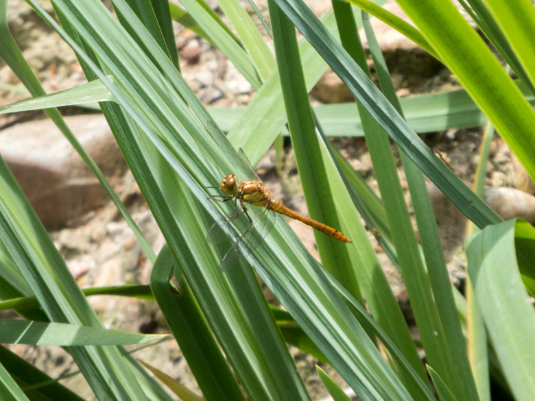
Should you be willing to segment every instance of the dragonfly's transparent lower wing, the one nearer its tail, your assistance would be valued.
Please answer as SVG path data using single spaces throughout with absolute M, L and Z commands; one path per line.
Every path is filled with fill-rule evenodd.
M 230 267 L 235 266 L 243 254 L 250 254 L 250 250 L 254 250 L 272 230 L 275 223 L 275 212 L 268 208 L 263 208 L 254 219 L 252 219 L 252 226 L 247 229 L 233 246 L 226 252 L 219 265 L 219 271 L 228 271 Z

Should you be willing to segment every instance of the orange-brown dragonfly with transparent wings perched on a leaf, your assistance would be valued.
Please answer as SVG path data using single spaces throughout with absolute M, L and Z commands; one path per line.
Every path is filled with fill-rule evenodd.
M 311 226 L 316 230 L 324 232 L 325 234 L 332 236 L 333 239 L 337 239 L 343 243 L 350 243 L 350 239 L 347 236 L 342 234 L 342 232 L 335 230 L 330 226 L 327 226 L 320 221 L 311 219 L 310 217 L 301 215 L 299 212 L 292 210 L 291 208 L 285 206 L 281 201 L 275 199 L 271 196 L 270 191 L 265 188 L 263 182 L 260 180 L 258 175 L 254 172 L 254 169 L 250 165 L 247 156 L 243 153 L 243 150 L 239 149 L 239 156 L 241 160 L 244 160 L 248 165 L 248 170 L 252 171 L 256 180 L 239 180 L 235 174 L 228 173 L 222 180 L 219 182 L 219 188 L 215 186 L 209 186 L 208 188 L 219 189 L 224 195 L 211 195 L 210 198 L 218 202 L 234 202 L 235 209 L 234 212 L 230 215 L 228 219 L 220 223 L 228 223 L 237 219 L 240 215 L 246 215 L 248 218 L 248 226 L 237 241 L 233 244 L 232 247 L 224 254 L 222 258 L 221 265 L 219 266 L 220 271 L 226 271 L 239 260 L 239 254 L 243 253 L 244 250 L 243 242 L 247 241 L 250 247 L 255 247 L 258 245 L 263 237 L 269 232 L 274 224 L 274 212 L 280 213 L 281 215 L 286 215 L 292 219 L 301 221 L 302 223 Z M 263 210 L 257 215 L 254 219 L 251 218 L 248 206 L 258 206 L 263 208 Z M 208 239 L 211 242 L 216 242 L 214 228 L 217 227 L 217 223 L 214 223 L 211 230 L 209 231 Z M 252 231 L 253 227 L 258 227 L 258 230 L 254 232 L 253 235 L 248 235 Z

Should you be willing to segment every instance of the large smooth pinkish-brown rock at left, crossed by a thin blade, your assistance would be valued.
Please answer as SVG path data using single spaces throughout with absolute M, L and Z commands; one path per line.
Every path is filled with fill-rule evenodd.
M 66 117 L 65 121 L 108 180 L 116 182 L 126 171 L 126 163 L 106 119 L 101 115 L 80 115 Z M 49 229 L 65 226 L 70 219 L 102 206 L 109 199 L 50 120 L 3 130 L 0 154 Z

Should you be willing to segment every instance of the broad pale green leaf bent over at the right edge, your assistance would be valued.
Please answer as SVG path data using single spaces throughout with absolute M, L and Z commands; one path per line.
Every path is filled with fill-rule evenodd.
M 468 274 L 503 375 L 515 399 L 527 401 L 535 399 L 535 311 L 519 272 L 523 256 L 516 258 L 516 230 L 534 243 L 529 223 L 509 220 L 474 234 L 466 251 Z

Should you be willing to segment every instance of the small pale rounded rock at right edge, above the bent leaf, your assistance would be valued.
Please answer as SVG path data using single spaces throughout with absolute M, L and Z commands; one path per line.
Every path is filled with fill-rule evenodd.
M 521 217 L 535 223 L 535 197 L 514 188 L 489 188 L 485 191 L 485 202 L 504 219 Z

